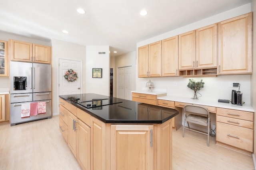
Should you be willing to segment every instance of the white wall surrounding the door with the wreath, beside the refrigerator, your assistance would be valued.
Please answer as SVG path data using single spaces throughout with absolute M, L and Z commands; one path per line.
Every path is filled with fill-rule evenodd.
M 86 46 L 52 39 L 52 114 L 58 115 L 58 61 L 59 59 L 69 59 L 82 61 L 82 80 L 85 79 L 84 71 L 86 62 Z M 81 92 L 85 92 L 85 84 L 81 85 Z

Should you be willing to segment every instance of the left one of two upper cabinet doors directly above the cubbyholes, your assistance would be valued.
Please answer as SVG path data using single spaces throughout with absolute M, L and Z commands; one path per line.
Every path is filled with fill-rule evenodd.
M 179 35 L 179 69 L 195 68 L 196 31 Z

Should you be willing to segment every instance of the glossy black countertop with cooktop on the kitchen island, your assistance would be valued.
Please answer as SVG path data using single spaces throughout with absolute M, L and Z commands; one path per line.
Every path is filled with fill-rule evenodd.
M 154 106 L 131 100 L 113 98 L 99 94 L 61 95 L 60 98 L 86 111 L 104 123 L 164 123 L 179 114 L 176 109 Z M 79 100 L 78 100 L 79 99 Z M 89 101 L 79 103 L 79 101 Z M 98 101 L 105 106 L 86 108 L 86 104 Z M 108 105 L 110 104 L 110 105 Z

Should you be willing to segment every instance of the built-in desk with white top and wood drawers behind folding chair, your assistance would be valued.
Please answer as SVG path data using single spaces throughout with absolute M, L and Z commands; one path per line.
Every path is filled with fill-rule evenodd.
M 249 155 L 253 152 L 254 109 L 249 104 L 237 106 L 229 103 L 220 103 L 218 100 L 191 99 L 177 96 L 158 97 L 158 101 L 161 101 L 161 106 L 168 104 L 168 102 L 174 102 L 174 108 L 180 112 L 180 115 L 183 113 L 182 108 L 187 104 L 208 108 L 210 113 L 216 113 L 213 117 L 216 118 L 216 144 Z M 182 121 L 176 123 L 182 124 Z

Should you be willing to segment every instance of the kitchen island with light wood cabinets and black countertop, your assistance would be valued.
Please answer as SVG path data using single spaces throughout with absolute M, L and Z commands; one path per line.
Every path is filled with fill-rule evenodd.
M 60 97 L 60 131 L 82 169 L 172 169 L 178 111 L 98 94 Z

